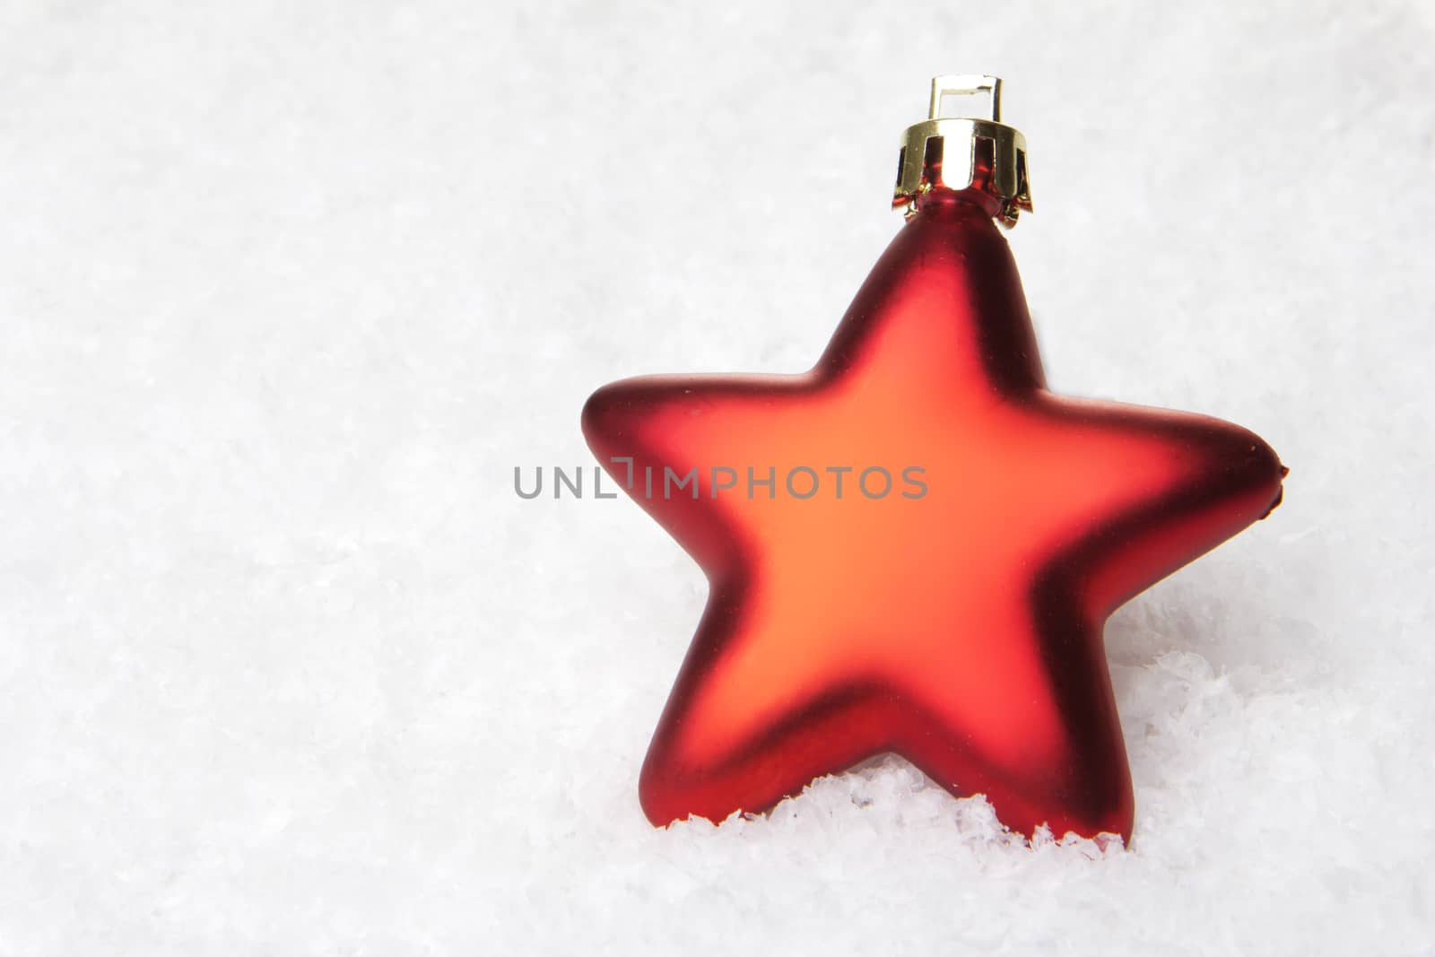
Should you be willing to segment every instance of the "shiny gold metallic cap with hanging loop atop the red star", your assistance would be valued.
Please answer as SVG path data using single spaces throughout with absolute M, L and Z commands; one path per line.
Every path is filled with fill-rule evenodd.
M 943 116 L 947 96 L 989 92 L 992 116 Z M 996 220 L 1010 228 L 1025 209 L 1032 211 L 1026 179 L 1026 136 L 1002 122 L 1002 80 L 996 76 L 961 73 L 931 79 L 931 109 L 927 119 L 903 133 L 897 159 L 897 188 L 893 208 L 917 211 L 917 197 L 937 187 L 980 189 L 1000 201 Z

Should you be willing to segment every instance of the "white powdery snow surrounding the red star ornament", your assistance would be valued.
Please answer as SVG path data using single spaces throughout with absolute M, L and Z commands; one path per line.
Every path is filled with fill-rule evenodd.
M 1432 49 L 1389 3 L 0 6 L 0 953 L 1432 953 Z M 705 580 L 512 469 L 591 466 L 604 382 L 806 369 L 941 72 L 1030 142 L 1052 387 L 1246 425 L 1286 504 L 1108 627 L 1128 851 L 897 760 L 653 829 Z

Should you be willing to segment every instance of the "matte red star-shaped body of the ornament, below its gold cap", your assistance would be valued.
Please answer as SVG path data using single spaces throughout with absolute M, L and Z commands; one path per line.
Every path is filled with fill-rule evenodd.
M 1264 517 L 1284 469 L 1227 422 L 1048 392 L 986 202 L 924 197 L 812 370 L 629 379 L 584 407 L 710 584 L 641 772 L 654 824 L 897 752 L 1013 829 L 1129 839 L 1105 618 Z M 664 466 L 696 468 L 699 496 L 664 498 Z M 775 488 L 749 498 L 749 466 Z

